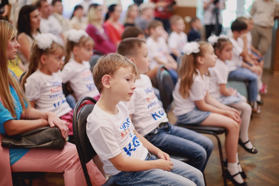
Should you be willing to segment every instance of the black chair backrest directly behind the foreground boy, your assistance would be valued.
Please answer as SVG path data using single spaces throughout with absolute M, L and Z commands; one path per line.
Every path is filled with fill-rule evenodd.
M 97 101 L 92 97 L 82 97 L 76 104 L 73 114 L 73 135 L 76 142 L 77 153 L 79 154 L 79 160 L 81 167 L 85 175 L 87 185 L 91 185 L 89 174 L 87 171 L 86 163 L 92 160 L 97 155 L 86 134 L 87 116 L 92 112 L 94 105 L 87 104 L 81 107 L 84 101 Z M 81 108 L 80 108 L 81 107 Z

